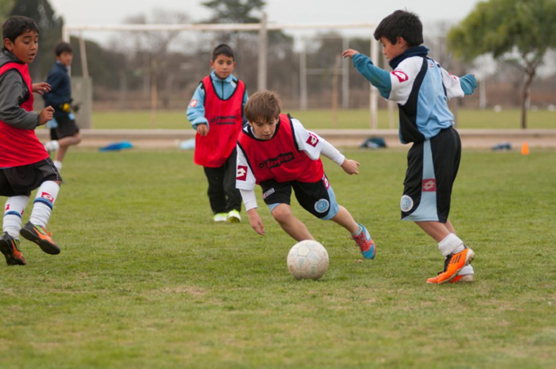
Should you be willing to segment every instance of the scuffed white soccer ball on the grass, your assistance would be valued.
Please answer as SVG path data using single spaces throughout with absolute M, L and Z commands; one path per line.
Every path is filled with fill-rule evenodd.
M 328 268 L 328 252 L 319 242 L 297 242 L 287 254 L 287 270 L 296 280 L 317 280 Z

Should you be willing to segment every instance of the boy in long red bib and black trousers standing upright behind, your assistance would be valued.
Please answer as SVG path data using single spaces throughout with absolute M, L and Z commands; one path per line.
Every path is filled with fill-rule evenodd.
M 220 44 L 212 52 L 214 69 L 202 79 L 187 107 L 187 118 L 197 130 L 195 164 L 209 181 L 209 202 L 215 222 L 240 222 L 241 195 L 235 187 L 236 140 L 244 124 L 247 89 L 232 72 L 234 52 Z

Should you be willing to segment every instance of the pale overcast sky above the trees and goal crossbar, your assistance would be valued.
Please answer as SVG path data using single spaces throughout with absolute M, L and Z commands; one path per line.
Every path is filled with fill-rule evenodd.
M 191 23 L 210 17 L 201 0 L 49 0 L 65 24 L 120 24 L 130 16 L 153 11 L 185 13 Z M 272 23 L 375 23 L 394 12 L 415 12 L 426 27 L 435 22 L 463 19 L 479 0 L 266 0 L 265 12 Z M 77 5 L 78 4 L 78 5 Z M 447 5 L 449 4 L 449 5 Z M 287 32 L 287 31 L 286 31 Z M 350 31 L 354 32 L 354 31 Z M 358 31 L 362 32 L 362 31 Z M 102 43 L 102 33 L 87 33 Z

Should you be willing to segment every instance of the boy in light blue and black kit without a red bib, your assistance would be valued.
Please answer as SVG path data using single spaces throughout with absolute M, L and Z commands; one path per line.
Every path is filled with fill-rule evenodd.
M 401 196 L 401 218 L 414 221 L 433 237 L 445 257 L 444 269 L 426 282 L 472 281 L 469 263 L 475 253 L 455 235 L 448 220 L 461 141 L 452 127 L 454 116 L 447 101 L 473 93 L 475 77 L 452 76 L 427 56 L 429 49 L 421 46 L 423 25 L 413 13 L 398 10 L 390 14 L 376 27 L 374 37 L 383 45 L 391 73 L 354 49 L 345 50 L 342 56 L 353 59 L 355 68 L 381 96 L 398 103 L 400 141 L 413 142 Z

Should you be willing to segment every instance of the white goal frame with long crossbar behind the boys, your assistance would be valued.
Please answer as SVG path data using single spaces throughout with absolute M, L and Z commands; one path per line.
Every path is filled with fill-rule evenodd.
M 257 89 L 267 87 L 267 33 L 269 31 L 321 31 L 341 29 L 368 29 L 370 37 L 370 57 L 373 63 L 378 63 L 379 44 L 372 34 L 375 29 L 373 23 L 325 23 L 325 24 L 295 24 L 295 23 L 268 23 L 266 14 L 263 14 L 261 23 L 190 23 L 190 24 L 64 24 L 62 27 L 62 38 L 69 42 L 71 34 L 77 34 L 80 40 L 81 67 L 83 76 L 88 78 L 87 56 L 85 50 L 85 32 L 115 31 L 115 32 L 160 32 L 160 31 L 254 31 L 259 32 L 258 64 L 257 64 Z M 347 43 L 345 43 L 347 47 Z M 347 61 L 344 61 L 346 63 Z M 344 64 L 345 66 L 346 64 Z M 347 73 L 342 72 L 342 106 L 347 106 Z M 369 125 L 370 128 L 378 128 L 378 90 L 370 86 L 369 101 Z M 301 87 L 302 88 L 302 87 Z

